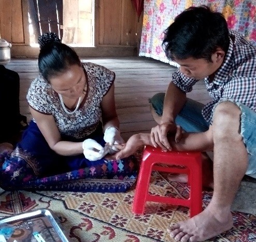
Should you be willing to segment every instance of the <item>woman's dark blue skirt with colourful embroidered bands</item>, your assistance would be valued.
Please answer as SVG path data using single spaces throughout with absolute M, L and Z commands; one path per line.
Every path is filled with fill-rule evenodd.
M 62 138 L 77 142 L 92 138 L 105 144 L 101 125 L 83 139 Z M 0 186 L 5 190 L 125 192 L 135 183 L 137 171 L 133 155 L 119 161 L 89 161 L 83 154 L 56 154 L 33 121 L 16 149 L 0 155 Z

